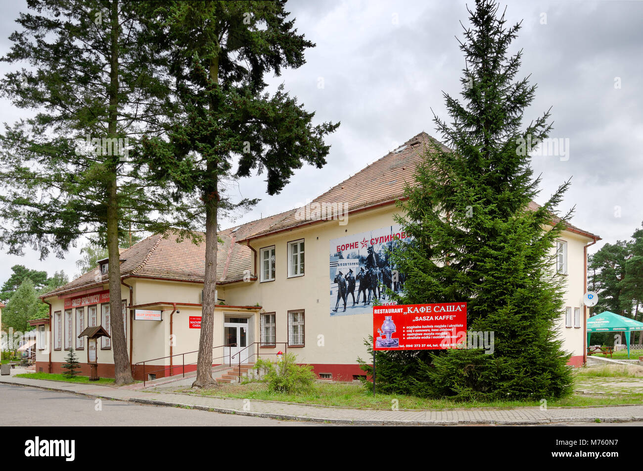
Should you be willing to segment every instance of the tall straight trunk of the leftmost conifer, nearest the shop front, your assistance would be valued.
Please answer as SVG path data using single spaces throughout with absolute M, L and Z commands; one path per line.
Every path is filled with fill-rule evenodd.
M 110 70 L 109 70 L 109 122 L 107 133 L 110 138 L 116 138 L 116 124 L 118 120 L 118 1 L 114 0 L 110 12 Z M 118 385 L 129 384 L 132 371 L 127 355 L 127 342 L 123 328 L 121 279 L 120 279 L 120 254 L 118 251 L 118 186 L 116 182 L 116 169 L 118 156 L 105 156 L 111 162 L 107 203 L 107 250 L 109 250 L 109 322 L 111 324 L 111 344 L 114 355 L 114 382 Z

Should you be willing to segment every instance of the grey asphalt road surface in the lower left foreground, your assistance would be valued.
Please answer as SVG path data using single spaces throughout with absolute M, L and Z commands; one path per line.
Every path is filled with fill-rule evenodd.
M 195 411 L 179 407 L 141 405 L 95 399 L 33 387 L 0 384 L 0 426 L 158 425 L 169 426 L 320 426 L 315 422 L 284 421 L 260 417 Z

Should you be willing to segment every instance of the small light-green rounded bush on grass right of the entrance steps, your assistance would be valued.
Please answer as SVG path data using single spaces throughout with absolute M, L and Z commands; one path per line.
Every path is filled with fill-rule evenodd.
M 283 355 L 276 363 L 259 358 L 255 368 L 263 372 L 262 380 L 268 385 L 268 390 L 276 393 L 309 393 L 316 379 L 311 365 L 296 364 L 294 353 Z

